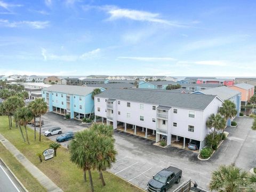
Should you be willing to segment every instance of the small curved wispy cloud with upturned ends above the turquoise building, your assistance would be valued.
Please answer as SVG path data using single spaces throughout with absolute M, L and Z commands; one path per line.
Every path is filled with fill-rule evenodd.
M 99 57 L 100 49 L 95 49 L 82 55 L 56 55 L 47 53 L 47 50 L 42 48 L 41 54 L 45 61 L 52 60 L 52 61 L 77 61 L 77 60 L 86 60 L 86 59 L 93 59 Z

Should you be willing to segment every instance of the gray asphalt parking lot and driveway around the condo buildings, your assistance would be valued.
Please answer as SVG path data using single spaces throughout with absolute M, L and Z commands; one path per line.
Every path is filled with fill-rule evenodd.
M 60 126 L 63 131 L 79 131 L 86 129 L 86 125 L 73 119 L 65 120 L 63 116 L 47 113 L 42 118 L 45 122 L 43 130 L 52 126 Z M 114 132 L 115 147 L 118 151 L 117 161 L 113 164 L 110 172 L 122 177 L 126 181 L 147 188 L 147 182 L 158 171 L 168 166 L 176 166 L 182 170 L 183 177 L 180 184 L 187 180 L 196 181 L 198 186 L 208 189 L 211 172 L 220 164 L 235 162 L 237 166 L 249 171 L 255 165 L 256 154 L 256 131 L 251 130 L 252 118 L 236 118 L 238 126 L 227 127 L 228 138 L 222 143 L 218 151 L 210 161 L 199 161 L 197 154 L 192 151 L 175 147 L 160 148 L 154 146 L 154 141 L 143 139 L 125 132 Z M 46 128 L 47 127 L 47 128 Z M 51 136 L 50 139 L 56 136 Z M 63 146 L 67 146 L 63 142 Z M 177 188 L 175 184 L 170 190 Z

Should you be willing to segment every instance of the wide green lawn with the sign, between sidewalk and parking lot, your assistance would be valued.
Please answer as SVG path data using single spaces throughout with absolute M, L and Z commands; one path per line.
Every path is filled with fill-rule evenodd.
M 13 123 L 14 124 L 14 123 Z M 59 148 L 57 150 L 57 157 L 39 163 L 36 153 L 43 152 L 48 148 L 51 140 L 42 137 L 41 143 L 38 141 L 39 135 L 37 134 L 37 141 L 34 141 L 34 132 L 28 128 L 28 135 L 30 145 L 24 143 L 15 124 L 12 130 L 9 130 L 8 118 L 0 116 L 0 133 L 4 135 L 12 144 L 23 153 L 30 162 L 34 163 L 42 172 L 44 172 L 53 182 L 55 182 L 64 191 L 90 191 L 89 181 L 83 181 L 83 172 L 78 169 L 75 164 L 70 162 L 69 153 L 66 148 Z M 25 133 L 25 131 L 24 131 Z M 103 172 L 106 181 L 106 186 L 102 187 L 101 180 L 97 171 L 92 171 L 93 185 L 95 191 L 142 191 L 134 187 L 130 183 L 118 178 L 116 175 Z M 87 174 L 88 178 L 88 174 Z M 33 190 L 31 190 L 33 191 Z

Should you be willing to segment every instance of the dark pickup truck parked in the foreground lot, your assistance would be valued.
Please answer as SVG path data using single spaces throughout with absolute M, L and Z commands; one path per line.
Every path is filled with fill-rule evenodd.
M 179 183 L 182 177 L 182 171 L 177 167 L 169 166 L 162 171 L 159 171 L 156 175 L 153 175 L 153 179 L 148 182 L 148 191 L 165 192 L 171 188 L 174 183 Z

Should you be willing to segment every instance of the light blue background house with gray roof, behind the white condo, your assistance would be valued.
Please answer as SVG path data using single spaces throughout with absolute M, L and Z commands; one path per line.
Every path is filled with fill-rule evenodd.
M 141 89 L 166 89 L 168 85 L 176 85 L 177 82 L 174 81 L 141 81 L 139 83 L 139 88 Z

